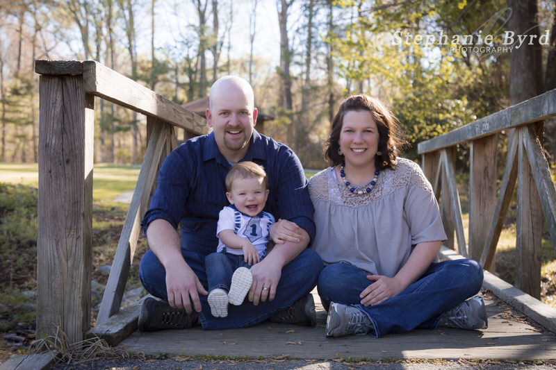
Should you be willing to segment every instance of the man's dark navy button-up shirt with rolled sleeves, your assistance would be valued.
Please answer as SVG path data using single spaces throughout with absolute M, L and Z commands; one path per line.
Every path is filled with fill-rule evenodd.
M 286 145 L 253 131 L 242 161 L 265 169 L 270 194 L 264 210 L 276 219 L 288 219 L 315 235 L 313 203 L 300 160 Z M 142 229 L 154 219 L 174 228 L 181 224 L 181 248 L 208 254 L 216 251 L 218 213 L 229 205 L 224 180 L 231 165 L 218 151 L 214 133 L 194 137 L 177 147 L 158 172 L 151 208 Z

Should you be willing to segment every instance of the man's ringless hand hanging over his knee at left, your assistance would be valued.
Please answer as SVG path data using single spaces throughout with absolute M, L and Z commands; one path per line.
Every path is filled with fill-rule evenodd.
M 191 314 L 193 309 L 201 312 L 199 294 L 208 294 L 195 272 L 183 260 L 166 267 L 166 290 L 168 303 L 173 308 L 185 308 L 188 314 Z

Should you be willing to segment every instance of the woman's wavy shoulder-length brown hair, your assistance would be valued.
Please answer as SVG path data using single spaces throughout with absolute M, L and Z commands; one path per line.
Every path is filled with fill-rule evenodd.
M 379 171 L 386 168 L 395 169 L 395 165 L 398 162 L 396 157 L 400 148 L 407 144 L 400 131 L 398 119 L 382 101 L 364 94 L 350 96 L 342 102 L 336 117 L 334 117 L 334 121 L 332 121 L 332 133 L 330 133 L 330 137 L 325 142 L 325 158 L 332 166 L 343 162 L 343 155 L 338 153 L 338 149 L 340 149 L 338 142 L 340 141 L 343 118 L 347 112 L 358 110 L 368 110 L 373 115 L 377 124 L 379 133 L 377 150 L 381 151 L 382 155 L 375 155 L 375 167 Z

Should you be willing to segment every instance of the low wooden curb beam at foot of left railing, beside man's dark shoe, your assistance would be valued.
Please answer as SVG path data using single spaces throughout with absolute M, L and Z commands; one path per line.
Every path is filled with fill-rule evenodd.
M 106 340 L 106 343 L 111 346 L 116 346 L 137 330 L 139 310 L 141 309 L 143 301 L 149 297 L 152 296 L 147 294 L 147 296 L 140 298 L 120 312 L 113 314 L 104 321 L 104 323 L 97 323 L 94 328 L 91 328 L 91 330 L 85 334 L 85 339 L 99 337 L 100 339 Z

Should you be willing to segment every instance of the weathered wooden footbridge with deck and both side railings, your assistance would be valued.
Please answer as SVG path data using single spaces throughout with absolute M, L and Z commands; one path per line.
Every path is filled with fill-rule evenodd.
M 403 335 L 327 339 L 318 305 L 316 328 L 261 323 L 221 331 L 175 330 L 133 333 L 140 301 L 120 311 L 125 283 L 140 232 L 140 216 L 156 174 L 176 142 L 175 128 L 188 137 L 208 132 L 206 121 L 95 61 L 38 60 L 40 74 L 38 313 L 37 333 L 57 326 L 72 342 L 99 335 L 116 346 L 147 354 L 250 355 L 297 358 L 556 358 L 556 310 L 539 298 L 543 216 L 556 246 L 556 190 L 538 133 L 543 119 L 556 115 L 556 90 L 484 117 L 418 146 L 423 169 L 441 203 L 447 246 L 480 260 L 486 270 L 517 182 L 518 287 L 488 271 L 486 330 L 414 330 Z M 92 167 L 94 97 L 147 115 L 147 151 L 115 251 L 95 328 L 90 328 L 92 269 Z M 512 131 L 497 196 L 498 136 Z M 455 182 L 455 146 L 470 146 L 469 237 L 466 242 Z M 486 228 L 485 226 L 490 226 Z M 454 230 L 455 235 L 454 237 Z M 458 258 L 443 249 L 443 258 Z M 461 257 L 461 256 L 459 256 Z M 318 295 L 315 295 L 318 300 Z M 514 309 L 541 324 L 530 326 Z M 320 310 L 319 310 L 320 309 Z M 545 331 L 543 331 L 545 330 Z M 551 333 L 550 333 L 551 332 Z M 131 336 L 130 336 L 131 335 Z M 127 338 L 127 339 L 126 339 Z

